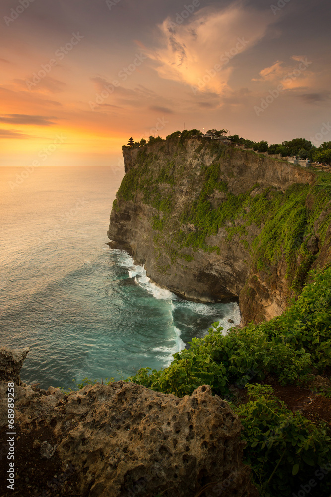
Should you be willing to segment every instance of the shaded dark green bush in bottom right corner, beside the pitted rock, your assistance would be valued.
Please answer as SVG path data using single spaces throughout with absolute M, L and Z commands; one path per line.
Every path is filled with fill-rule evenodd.
M 288 497 L 309 480 L 318 481 L 316 470 L 330 461 L 327 426 L 315 426 L 299 412 L 288 410 L 269 385 L 249 385 L 248 394 L 247 404 L 232 408 L 244 426 L 244 457 L 261 496 Z M 331 472 L 310 495 L 322 497 L 330 484 Z

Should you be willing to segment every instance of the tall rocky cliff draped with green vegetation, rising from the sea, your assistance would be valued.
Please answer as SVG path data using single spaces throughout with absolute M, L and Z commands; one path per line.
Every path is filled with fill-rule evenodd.
M 108 237 L 177 295 L 239 299 L 243 324 L 260 322 L 329 258 L 323 173 L 188 132 L 123 156 Z

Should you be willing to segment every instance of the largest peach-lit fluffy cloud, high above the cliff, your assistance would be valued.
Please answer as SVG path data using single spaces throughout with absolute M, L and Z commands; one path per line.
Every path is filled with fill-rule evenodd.
M 244 7 L 241 2 L 221 10 L 205 7 L 186 24 L 177 25 L 170 17 L 165 19 L 158 26 L 160 48 L 147 49 L 146 55 L 156 62 L 161 78 L 191 86 L 197 86 L 215 64 L 220 64 L 222 69 L 201 90 L 224 94 L 233 59 L 261 40 L 272 21 L 265 12 Z

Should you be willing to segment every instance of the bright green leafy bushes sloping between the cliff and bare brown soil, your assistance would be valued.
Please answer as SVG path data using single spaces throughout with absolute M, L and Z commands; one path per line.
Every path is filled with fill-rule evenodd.
M 283 315 L 226 336 L 214 323 L 204 338 L 174 354 L 169 367 L 150 374 L 142 368 L 128 380 L 179 396 L 207 383 L 224 396 L 229 384 L 261 381 L 270 373 L 282 384 L 303 382 L 313 370 L 322 373 L 331 366 L 331 268 L 313 275 L 314 283 Z

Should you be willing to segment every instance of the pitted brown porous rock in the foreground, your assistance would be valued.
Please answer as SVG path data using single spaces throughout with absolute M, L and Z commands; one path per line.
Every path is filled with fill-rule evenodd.
M 23 385 L 15 405 L 21 495 L 257 496 L 240 420 L 209 386 L 179 399 L 123 381 L 70 395 Z

